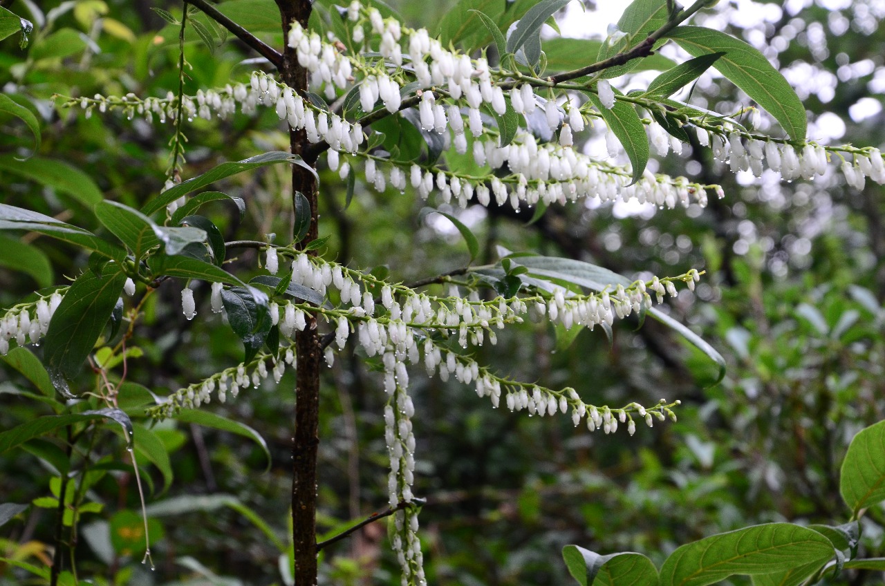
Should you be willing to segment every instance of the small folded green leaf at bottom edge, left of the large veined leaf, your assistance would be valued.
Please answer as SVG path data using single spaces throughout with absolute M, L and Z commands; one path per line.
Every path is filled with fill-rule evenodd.
M 658 586 L 658 568 L 640 553 L 622 552 L 601 556 L 577 545 L 562 550 L 569 574 L 581 584 L 590 586 Z

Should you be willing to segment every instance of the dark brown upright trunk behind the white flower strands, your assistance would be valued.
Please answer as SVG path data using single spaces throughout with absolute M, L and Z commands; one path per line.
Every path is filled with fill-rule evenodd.
M 283 38 L 289 35 L 293 22 L 307 28 L 311 16 L 310 0 L 276 0 L 282 17 Z M 288 45 L 283 49 L 280 77 L 286 85 L 302 96 L 307 91 L 307 72 L 298 65 L 296 52 Z M 316 155 L 304 130 L 289 130 L 292 154 L 299 155 L 310 166 Z M 312 173 L 300 166 L 292 167 L 293 208 L 296 192 L 311 204 L 311 226 L 301 246 L 317 238 L 317 182 Z M 315 251 L 311 252 L 316 254 Z M 292 445 L 292 541 L 295 544 L 295 583 L 315 586 L 317 583 L 317 447 L 319 444 L 319 366 L 320 346 L 316 320 L 310 320 L 295 338 L 296 413 L 295 441 Z

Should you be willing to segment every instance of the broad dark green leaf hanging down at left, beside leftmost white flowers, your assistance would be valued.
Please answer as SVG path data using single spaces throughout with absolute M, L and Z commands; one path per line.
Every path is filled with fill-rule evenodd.
M 80 370 L 111 317 L 126 282 L 119 265 L 104 267 L 101 276 L 86 272 L 77 277 L 52 315 L 43 357 L 56 389 L 65 394 L 65 377 Z

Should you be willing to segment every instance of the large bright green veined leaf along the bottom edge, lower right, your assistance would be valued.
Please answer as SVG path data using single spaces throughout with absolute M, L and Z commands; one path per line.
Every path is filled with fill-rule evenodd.
M 660 580 L 673 586 L 704 586 L 733 574 L 776 574 L 823 564 L 834 557 L 827 537 L 791 523 L 769 523 L 682 545 L 661 567 Z

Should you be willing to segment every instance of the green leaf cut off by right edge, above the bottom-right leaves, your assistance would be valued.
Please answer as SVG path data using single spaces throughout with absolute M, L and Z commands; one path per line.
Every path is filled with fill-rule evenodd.
M 861 430 L 851 440 L 839 490 L 855 518 L 861 509 L 885 500 L 885 421 Z

